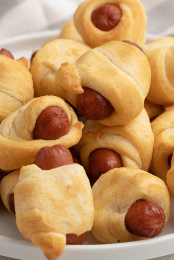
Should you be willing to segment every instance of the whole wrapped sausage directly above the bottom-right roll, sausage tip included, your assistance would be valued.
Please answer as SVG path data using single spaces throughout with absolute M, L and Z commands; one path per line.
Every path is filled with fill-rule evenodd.
M 125 126 L 108 127 L 94 120 L 87 120 L 74 151 L 80 157 L 90 179 L 96 180 L 102 173 L 114 167 L 148 171 L 153 140 L 149 117 L 143 109 L 137 118 Z M 94 153 L 97 153 L 95 157 Z

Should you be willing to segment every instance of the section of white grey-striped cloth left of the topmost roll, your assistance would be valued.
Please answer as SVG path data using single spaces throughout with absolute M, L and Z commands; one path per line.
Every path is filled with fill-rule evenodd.
M 0 0 L 0 39 L 60 29 L 81 0 Z

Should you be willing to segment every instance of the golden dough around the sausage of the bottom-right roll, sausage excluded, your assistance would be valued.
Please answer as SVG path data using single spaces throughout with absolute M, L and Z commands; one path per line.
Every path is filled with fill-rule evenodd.
M 137 200 L 162 207 L 165 223 L 171 210 L 170 194 L 163 180 L 146 171 L 115 168 L 102 174 L 92 187 L 94 223 L 91 232 L 102 243 L 118 243 L 147 239 L 129 232 L 124 219 Z

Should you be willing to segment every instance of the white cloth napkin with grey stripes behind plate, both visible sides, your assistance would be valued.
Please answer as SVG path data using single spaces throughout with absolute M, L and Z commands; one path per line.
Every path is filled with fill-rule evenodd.
M 60 29 L 84 0 L 0 0 L 0 39 Z M 174 35 L 174 0 L 142 0 L 147 34 Z

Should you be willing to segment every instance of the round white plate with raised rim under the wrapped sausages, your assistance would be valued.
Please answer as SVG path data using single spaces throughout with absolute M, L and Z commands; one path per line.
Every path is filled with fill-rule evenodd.
M 12 52 L 15 59 L 22 56 L 30 58 L 32 51 L 39 49 L 45 42 L 57 38 L 59 31 L 47 31 L 13 37 L 0 41 L 0 49 L 6 48 Z M 151 39 L 148 39 L 151 40 Z M 90 232 L 84 245 L 66 245 L 59 260 L 145 260 L 174 253 L 174 201 L 170 219 L 163 232 L 151 239 L 118 243 L 101 244 Z M 13 216 L 0 201 L 0 255 L 22 260 L 44 260 L 44 254 L 39 248 L 23 238 Z

